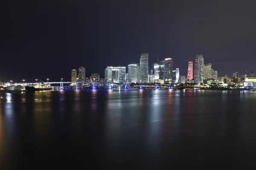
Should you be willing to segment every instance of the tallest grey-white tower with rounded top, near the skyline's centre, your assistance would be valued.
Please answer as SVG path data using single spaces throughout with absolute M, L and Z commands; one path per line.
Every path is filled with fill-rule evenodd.
M 142 83 L 148 83 L 148 53 L 140 56 L 140 80 Z

